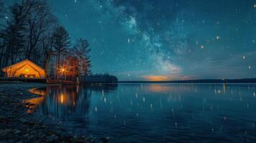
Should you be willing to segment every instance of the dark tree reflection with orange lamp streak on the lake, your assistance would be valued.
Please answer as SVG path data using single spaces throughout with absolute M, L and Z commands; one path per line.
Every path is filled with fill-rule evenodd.
M 117 84 L 91 84 L 30 89 L 30 92 L 42 97 L 26 100 L 25 102 L 30 103 L 27 112 L 31 113 L 37 109 L 41 114 L 52 117 L 61 119 L 79 117 L 82 119 L 88 113 L 90 97 L 93 92 L 108 93 L 116 88 Z

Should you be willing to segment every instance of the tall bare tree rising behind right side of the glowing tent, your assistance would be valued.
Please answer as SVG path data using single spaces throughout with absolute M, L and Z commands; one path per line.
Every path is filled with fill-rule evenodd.
M 46 1 L 42 0 L 26 0 L 28 4 L 31 4 L 31 10 L 27 15 L 27 46 L 26 46 L 26 58 L 32 61 L 37 61 L 36 56 L 39 53 L 40 41 L 44 39 L 44 33 L 47 32 L 49 26 L 55 23 L 56 18 L 52 15 L 49 6 Z M 44 39 L 45 40 L 45 39 Z M 38 49 L 37 49 L 38 48 Z M 33 54 L 34 52 L 34 54 Z M 34 57 L 33 57 L 34 56 Z

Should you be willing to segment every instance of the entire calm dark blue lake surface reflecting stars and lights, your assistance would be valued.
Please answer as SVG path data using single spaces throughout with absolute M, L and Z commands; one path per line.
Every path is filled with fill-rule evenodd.
M 256 84 L 118 84 L 32 89 L 37 112 L 112 142 L 256 142 Z M 33 112 L 33 111 L 28 111 Z

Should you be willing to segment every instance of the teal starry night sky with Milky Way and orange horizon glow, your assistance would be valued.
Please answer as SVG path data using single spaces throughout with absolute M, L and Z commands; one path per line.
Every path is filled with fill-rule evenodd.
M 119 80 L 256 77 L 254 0 L 49 1 L 93 73 Z

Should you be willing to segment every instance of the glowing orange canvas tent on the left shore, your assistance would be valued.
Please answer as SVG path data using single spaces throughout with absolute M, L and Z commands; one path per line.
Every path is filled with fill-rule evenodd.
M 6 66 L 2 71 L 5 72 L 5 77 L 45 78 L 44 69 L 29 61 L 29 59 L 24 59 L 23 61 Z

